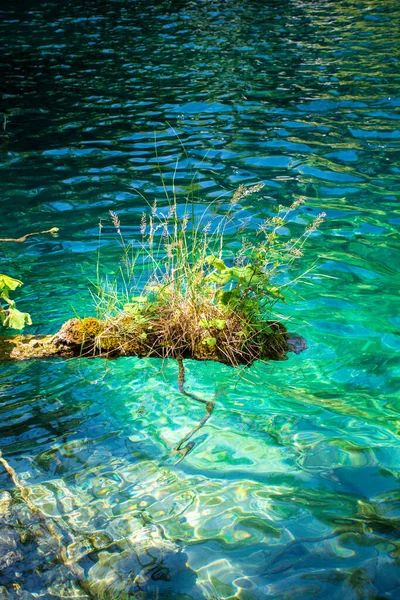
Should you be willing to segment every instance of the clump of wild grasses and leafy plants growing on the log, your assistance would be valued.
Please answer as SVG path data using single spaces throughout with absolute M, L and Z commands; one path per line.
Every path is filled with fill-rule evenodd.
M 111 281 L 98 272 L 94 298 L 105 325 L 97 349 L 233 366 L 283 358 L 287 332 L 274 317 L 287 290 L 282 274 L 301 258 L 325 214 L 288 241 L 280 231 L 303 204 L 298 198 L 254 231 L 251 219 L 241 218 L 240 203 L 262 187 L 240 185 L 229 201 L 220 198 L 199 211 L 194 201 L 180 204 L 164 185 L 167 206 L 148 204 L 139 243 L 125 241 L 110 211 L 122 256 Z

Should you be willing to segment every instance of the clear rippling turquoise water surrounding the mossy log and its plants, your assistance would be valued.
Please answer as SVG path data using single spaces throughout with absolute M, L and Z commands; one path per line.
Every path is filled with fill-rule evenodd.
M 373 0 L 2 10 L 0 237 L 60 228 L 0 248 L 30 331 L 93 314 L 99 219 L 112 272 L 108 211 L 137 239 L 136 190 L 163 202 L 157 162 L 171 185 L 179 160 L 182 201 L 197 171 L 204 206 L 263 182 L 242 206 L 255 224 L 299 195 L 327 213 L 310 285 L 279 306 L 308 350 L 240 373 L 188 361 L 216 408 L 178 465 L 204 407 L 174 362 L 1 365 L 3 456 L 94 597 L 400 597 L 399 19 Z M 11 598 L 68 595 L 16 545 Z

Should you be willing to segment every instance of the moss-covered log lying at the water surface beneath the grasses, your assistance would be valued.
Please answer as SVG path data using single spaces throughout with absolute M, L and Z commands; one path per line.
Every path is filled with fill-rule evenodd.
M 109 321 L 70 319 L 54 335 L 0 337 L 0 360 L 137 356 L 213 360 L 237 366 L 255 360 L 284 360 L 288 352 L 298 354 L 307 347 L 304 338 L 290 334 L 277 321 L 270 321 L 266 331 L 253 333 L 250 340 L 243 339 L 240 331 L 235 333 L 238 335 L 215 329 L 186 339 L 179 332 L 179 338 L 173 339 L 171 329 L 166 331 L 157 321 L 138 327 L 129 315 Z

